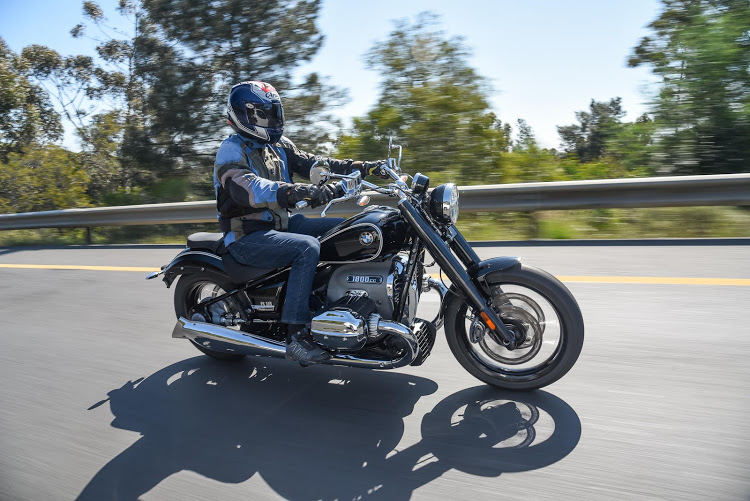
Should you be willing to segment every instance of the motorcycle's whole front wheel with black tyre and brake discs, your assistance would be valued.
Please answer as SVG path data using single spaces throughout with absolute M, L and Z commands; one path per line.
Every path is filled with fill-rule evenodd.
M 523 341 L 515 350 L 505 349 L 454 294 L 446 306 L 445 335 L 458 362 L 479 380 L 507 390 L 533 390 L 563 377 L 583 348 L 583 317 L 570 291 L 549 273 L 525 265 L 487 282 L 493 309 Z

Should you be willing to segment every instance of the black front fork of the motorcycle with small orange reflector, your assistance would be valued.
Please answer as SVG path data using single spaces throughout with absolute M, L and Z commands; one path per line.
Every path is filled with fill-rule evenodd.
M 474 308 L 478 313 L 482 323 L 497 335 L 497 338 L 505 348 L 508 350 L 515 349 L 517 341 L 514 334 L 506 329 L 505 324 L 503 324 L 492 309 L 489 301 L 480 293 L 477 288 L 478 284 L 474 283 L 474 280 L 467 271 L 473 271 L 480 262 L 479 256 L 471 248 L 469 242 L 466 241 L 455 227 L 451 226 L 449 229 L 449 241 L 451 245 L 449 247 L 432 226 L 427 221 L 424 221 L 424 218 L 411 202 L 402 200 L 399 202 L 398 207 L 404 219 L 410 223 L 417 236 L 425 244 L 427 250 L 430 251 L 430 255 L 435 259 L 438 266 L 440 266 L 445 274 L 448 275 L 451 282 L 464 294 L 469 306 Z

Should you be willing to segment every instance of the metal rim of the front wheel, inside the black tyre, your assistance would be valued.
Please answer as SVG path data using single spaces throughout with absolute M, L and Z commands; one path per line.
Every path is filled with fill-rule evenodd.
M 457 334 L 465 352 L 484 372 L 507 380 L 528 381 L 548 373 L 565 345 L 565 329 L 553 303 L 527 285 L 493 284 L 492 307 L 511 330 L 523 331 L 521 347 L 510 351 L 499 339 L 485 334 L 471 342 L 476 314 L 464 304 L 457 315 Z

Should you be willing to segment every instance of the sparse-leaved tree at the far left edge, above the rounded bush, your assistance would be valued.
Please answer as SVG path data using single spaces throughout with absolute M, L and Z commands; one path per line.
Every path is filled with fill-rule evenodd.
M 60 117 L 44 90 L 29 79 L 25 61 L 0 38 L 0 162 L 62 135 Z

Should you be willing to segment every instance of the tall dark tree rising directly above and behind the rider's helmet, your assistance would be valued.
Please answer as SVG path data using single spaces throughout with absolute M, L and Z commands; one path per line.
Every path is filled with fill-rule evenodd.
M 330 110 L 345 101 L 346 92 L 329 82 L 323 85 L 323 77 L 316 73 L 299 84 L 292 78 L 293 70 L 310 61 L 323 42 L 315 25 L 320 0 L 221 0 L 210 4 L 144 0 L 143 8 L 144 19 L 156 32 L 177 42 L 214 84 L 211 91 L 219 99 L 214 98 L 192 117 L 204 137 L 216 137 L 216 124 L 224 118 L 231 85 L 263 80 L 281 93 L 286 132 L 297 146 L 314 151 L 333 140 L 331 131 L 339 124 Z

